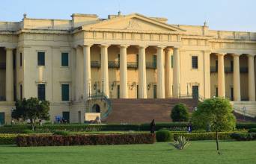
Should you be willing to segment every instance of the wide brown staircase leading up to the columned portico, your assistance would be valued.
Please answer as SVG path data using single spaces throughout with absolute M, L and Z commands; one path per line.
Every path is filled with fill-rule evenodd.
M 109 99 L 112 110 L 103 119 L 105 123 L 145 123 L 155 119 L 156 122 L 171 122 L 171 109 L 175 104 L 183 103 L 189 107 L 189 112 L 198 105 L 198 99 L 193 98 L 163 98 L 163 99 Z

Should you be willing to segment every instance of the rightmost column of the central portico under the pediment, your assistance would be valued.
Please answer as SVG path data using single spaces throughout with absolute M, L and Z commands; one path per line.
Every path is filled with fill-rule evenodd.
M 173 68 L 173 97 L 179 97 L 180 84 L 180 50 L 174 47 L 174 68 Z

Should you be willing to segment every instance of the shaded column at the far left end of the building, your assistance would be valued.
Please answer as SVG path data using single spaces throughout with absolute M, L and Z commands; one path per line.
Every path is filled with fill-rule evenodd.
M 13 99 L 13 48 L 5 48 L 6 50 L 6 101 L 14 101 Z

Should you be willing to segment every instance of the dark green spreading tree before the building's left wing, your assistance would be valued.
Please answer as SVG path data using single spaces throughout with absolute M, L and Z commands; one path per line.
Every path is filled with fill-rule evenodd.
M 37 119 L 49 120 L 49 101 L 39 101 L 37 98 L 23 98 L 15 103 L 16 109 L 11 116 L 13 119 L 30 120 L 31 129 Z

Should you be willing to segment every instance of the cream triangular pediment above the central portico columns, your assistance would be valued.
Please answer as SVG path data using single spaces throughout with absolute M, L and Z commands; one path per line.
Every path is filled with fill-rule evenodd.
M 150 19 L 138 13 L 132 13 L 127 16 L 118 16 L 112 19 L 107 19 L 93 25 L 85 25 L 83 29 L 109 29 L 109 30 L 125 30 L 125 31 L 159 31 L 159 32 L 183 32 L 181 28 L 173 25 L 168 25 L 163 22 Z

